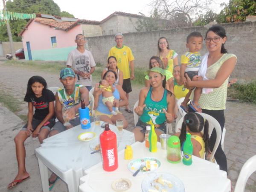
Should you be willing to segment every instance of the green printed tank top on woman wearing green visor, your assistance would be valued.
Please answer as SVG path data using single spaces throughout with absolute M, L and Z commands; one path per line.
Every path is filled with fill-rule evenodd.
M 143 114 L 140 116 L 140 120 L 149 125 L 160 125 L 166 121 L 166 115 L 163 109 L 167 111 L 167 90 L 164 90 L 163 97 L 159 102 L 155 102 L 151 99 L 151 89 L 148 90 L 144 104 Z

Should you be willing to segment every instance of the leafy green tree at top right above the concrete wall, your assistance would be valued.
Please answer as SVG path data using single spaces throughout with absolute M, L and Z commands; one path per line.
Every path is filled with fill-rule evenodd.
M 245 21 L 248 15 L 256 15 L 255 0 L 230 0 L 218 15 L 218 23 Z

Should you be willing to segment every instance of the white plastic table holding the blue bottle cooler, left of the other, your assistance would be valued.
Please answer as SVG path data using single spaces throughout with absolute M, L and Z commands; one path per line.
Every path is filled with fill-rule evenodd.
M 110 129 L 118 133 L 116 126 L 110 125 Z M 100 153 L 90 154 L 92 152 L 89 147 L 90 142 L 83 142 L 77 138 L 79 134 L 87 131 L 95 132 L 96 138 L 94 140 L 99 140 L 99 135 L 104 131 L 104 128 L 96 127 L 94 122 L 91 123 L 89 129 L 81 129 L 81 126 L 78 125 L 45 139 L 41 147 L 35 149 L 43 192 L 49 192 L 47 168 L 67 183 L 69 192 L 77 192 L 79 178 L 84 175 L 84 170 L 101 162 Z M 126 145 L 135 142 L 134 133 L 130 131 L 123 130 L 121 137 L 118 151 L 122 151 Z

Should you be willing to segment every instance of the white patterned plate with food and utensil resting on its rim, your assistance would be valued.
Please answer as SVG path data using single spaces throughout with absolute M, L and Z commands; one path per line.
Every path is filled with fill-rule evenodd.
M 127 168 L 132 172 L 136 172 L 138 169 L 140 169 L 141 173 L 148 173 L 151 171 L 156 170 L 158 167 L 160 167 L 161 163 L 158 159 L 154 157 L 144 157 L 136 160 L 132 160 Z

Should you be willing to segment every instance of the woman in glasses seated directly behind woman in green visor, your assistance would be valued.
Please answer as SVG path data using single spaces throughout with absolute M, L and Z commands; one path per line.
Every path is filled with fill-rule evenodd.
M 164 70 L 165 67 L 163 67 L 163 62 L 161 61 L 161 59 L 157 56 L 152 56 L 149 59 L 149 69 L 151 70 L 153 67 L 160 67 Z M 166 89 L 171 91 L 173 93 L 173 87 L 172 85 L 172 81 L 173 81 L 173 75 L 169 70 L 164 70 L 165 71 L 165 76 L 166 76 Z M 149 77 L 148 75 L 145 75 L 145 87 L 149 87 L 150 83 L 149 83 Z

